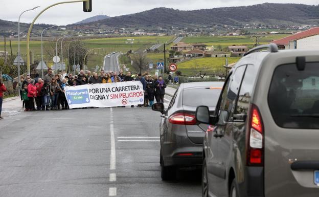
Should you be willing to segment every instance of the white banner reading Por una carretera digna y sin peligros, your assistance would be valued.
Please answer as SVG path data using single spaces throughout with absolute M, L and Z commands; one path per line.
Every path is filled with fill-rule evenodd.
M 144 104 L 141 81 L 99 83 L 65 87 L 70 108 L 115 107 Z

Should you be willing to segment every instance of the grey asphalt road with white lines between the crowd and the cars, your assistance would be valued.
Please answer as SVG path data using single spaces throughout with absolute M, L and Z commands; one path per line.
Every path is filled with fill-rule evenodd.
M 6 117 L 0 196 L 201 196 L 198 170 L 161 180 L 159 121 L 150 108 L 130 107 Z

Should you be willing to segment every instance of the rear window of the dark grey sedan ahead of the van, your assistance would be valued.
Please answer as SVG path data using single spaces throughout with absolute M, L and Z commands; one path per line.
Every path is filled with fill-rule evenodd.
M 183 91 L 183 105 L 187 106 L 216 106 L 221 87 L 200 87 L 196 89 L 186 89 Z

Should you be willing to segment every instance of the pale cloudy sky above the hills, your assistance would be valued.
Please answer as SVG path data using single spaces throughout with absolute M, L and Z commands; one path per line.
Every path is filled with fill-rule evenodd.
M 17 21 L 20 13 L 35 6 L 41 6 L 36 10 L 24 13 L 20 21 L 30 23 L 34 16 L 45 7 L 64 0 L 0 0 L 2 11 L 0 19 Z M 76 23 L 87 17 L 95 16 L 103 12 L 108 16 L 120 16 L 136 12 L 142 12 L 157 7 L 167 7 L 179 10 L 196 10 L 217 7 L 248 6 L 262 3 L 303 3 L 318 5 L 319 0 L 93 0 L 93 11 L 82 12 L 82 3 L 61 4 L 45 11 L 36 23 L 67 25 Z

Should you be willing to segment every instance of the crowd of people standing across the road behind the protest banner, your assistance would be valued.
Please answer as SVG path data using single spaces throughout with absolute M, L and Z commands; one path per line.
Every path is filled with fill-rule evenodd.
M 156 76 L 136 74 L 136 77 L 127 72 L 126 75 L 123 71 L 104 73 L 103 70 L 100 73 L 94 72 L 91 75 L 90 71 L 86 74 L 83 70 L 79 72 L 79 75 L 69 75 L 62 78 L 61 74 L 53 74 L 52 69 L 48 70 L 48 74 L 42 78 L 36 74 L 32 79 L 30 75 L 27 78 L 20 78 L 18 83 L 21 101 L 23 101 L 22 107 L 25 111 L 49 111 L 49 110 L 68 110 L 69 104 L 67 103 L 64 91 L 66 86 L 95 84 L 95 83 L 116 83 L 122 81 L 141 81 L 144 90 L 144 104 L 138 105 L 138 107 L 151 107 L 156 102 L 164 102 L 166 83 L 162 76 L 158 78 Z M 0 86 L 1 88 L 1 86 Z M 1 90 L 0 90 L 1 91 Z M 0 106 L 2 104 L 2 97 L 0 92 Z M 131 105 L 134 107 L 134 105 Z M 0 110 L 1 115 L 1 110 Z

